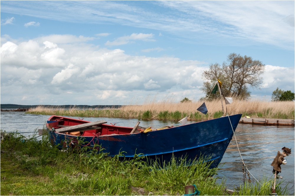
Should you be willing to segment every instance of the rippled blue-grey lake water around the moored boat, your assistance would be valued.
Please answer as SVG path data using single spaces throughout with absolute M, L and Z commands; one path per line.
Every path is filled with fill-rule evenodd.
M 31 136 L 34 130 L 42 129 L 50 117 L 49 115 L 25 114 L 24 112 L 0 112 L 0 114 L 1 130 L 6 130 L 6 132 L 18 130 L 24 136 Z M 73 118 L 78 119 L 78 117 Z M 138 121 L 137 119 L 93 117 L 85 117 L 84 120 L 106 120 L 108 123 L 117 123 L 119 126 L 127 127 L 134 127 Z M 140 121 L 140 126 L 152 128 L 171 124 L 173 122 L 170 121 Z M 292 148 L 292 154 L 285 157 L 287 164 L 281 165 L 282 172 L 279 175 L 283 176 L 284 184 L 289 184 L 290 194 L 294 195 L 294 127 L 239 124 L 235 131 L 235 136 L 244 162 L 250 173 L 258 181 L 264 177 L 271 178 L 273 176 L 273 167 L 270 164 L 282 147 Z M 228 189 L 232 190 L 243 183 L 242 162 L 240 160 L 241 157 L 237 149 L 235 137 L 233 137 L 223 156 L 221 161 L 223 166 L 218 173 L 219 177 L 226 179 Z M 250 178 L 255 183 L 255 179 L 252 176 Z

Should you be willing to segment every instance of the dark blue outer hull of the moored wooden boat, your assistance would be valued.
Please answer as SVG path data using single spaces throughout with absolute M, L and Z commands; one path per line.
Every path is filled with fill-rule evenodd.
M 140 154 L 140 156 L 145 156 L 147 160 L 158 159 L 161 162 L 167 162 L 171 160 L 172 156 L 193 160 L 203 155 L 211 157 L 211 167 L 213 168 L 220 163 L 240 118 L 241 114 L 238 114 L 148 133 L 100 136 L 62 134 L 52 131 L 48 124 L 47 128 L 51 142 L 60 148 L 69 147 L 69 144 L 75 147 L 78 143 L 77 140 L 83 140 L 89 143 L 89 146 L 99 144 L 103 149 L 102 151 L 112 157 L 124 151 L 124 158 L 133 158 L 135 154 Z M 109 130 L 111 128 L 113 130 L 120 129 L 119 126 L 106 126 L 109 126 Z M 132 128 L 130 128 L 131 130 Z

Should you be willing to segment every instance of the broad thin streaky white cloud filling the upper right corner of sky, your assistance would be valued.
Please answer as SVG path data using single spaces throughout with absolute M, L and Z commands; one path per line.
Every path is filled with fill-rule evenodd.
M 197 27 L 198 31 L 216 32 L 218 37 L 239 37 L 294 49 L 294 1 L 161 1 L 160 3 L 188 14 L 187 25 L 192 28 Z M 175 23 L 177 24 L 176 21 Z M 187 25 L 185 29 L 189 28 Z

